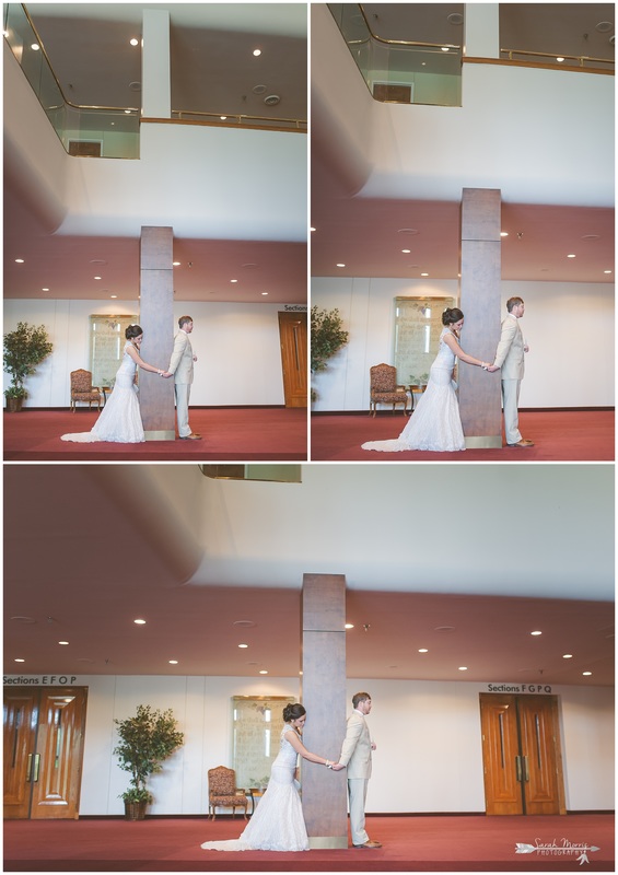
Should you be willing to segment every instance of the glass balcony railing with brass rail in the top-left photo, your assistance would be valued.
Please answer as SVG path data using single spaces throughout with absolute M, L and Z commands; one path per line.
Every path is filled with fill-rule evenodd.
M 4 38 L 67 152 L 85 158 L 138 159 L 140 124 L 217 125 L 306 133 L 306 119 L 172 110 L 172 118 L 141 118 L 135 106 L 85 106 L 69 101 L 23 3 L 4 7 Z

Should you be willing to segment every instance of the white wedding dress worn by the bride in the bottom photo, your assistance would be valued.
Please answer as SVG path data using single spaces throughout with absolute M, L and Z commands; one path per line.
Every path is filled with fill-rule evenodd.
M 308 838 L 299 782 L 294 780 L 298 754 L 284 738 L 294 730 L 285 724 L 279 754 L 270 770 L 270 781 L 255 813 L 238 839 L 207 841 L 207 851 L 308 851 Z

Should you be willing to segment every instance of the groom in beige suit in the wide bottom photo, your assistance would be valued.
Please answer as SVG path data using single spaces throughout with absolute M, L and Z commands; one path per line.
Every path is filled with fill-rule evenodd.
M 354 848 L 382 848 L 371 841 L 365 830 L 366 785 L 371 778 L 371 740 L 365 716 L 371 711 L 369 692 L 357 692 L 352 697 L 353 711 L 348 719 L 346 738 L 341 746 L 339 762 L 348 767 L 348 795 L 350 798 L 350 831 Z

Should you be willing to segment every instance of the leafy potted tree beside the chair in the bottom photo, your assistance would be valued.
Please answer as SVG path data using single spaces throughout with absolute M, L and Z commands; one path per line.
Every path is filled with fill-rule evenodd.
M 139 704 L 135 716 L 114 720 L 114 723 L 120 738 L 114 754 L 120 768 L 131 772 L 130 786 L 120 794 L 125 801 L 125 817 L 143 820 L 147 805 L 153 801 L 147 779 L 162 770 L 161 763 L 180 747 L 184 735 L 176 728 L 171 709 L 153 710 L 149 704 Z

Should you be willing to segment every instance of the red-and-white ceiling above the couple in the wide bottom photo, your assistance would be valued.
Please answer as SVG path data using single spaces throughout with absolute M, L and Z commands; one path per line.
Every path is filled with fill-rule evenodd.
M 290 677 L 303 574 L 336 573 L 349 677 L 610 685 L 613 493 L 597 465 L 4 466 L 4 670 Z

